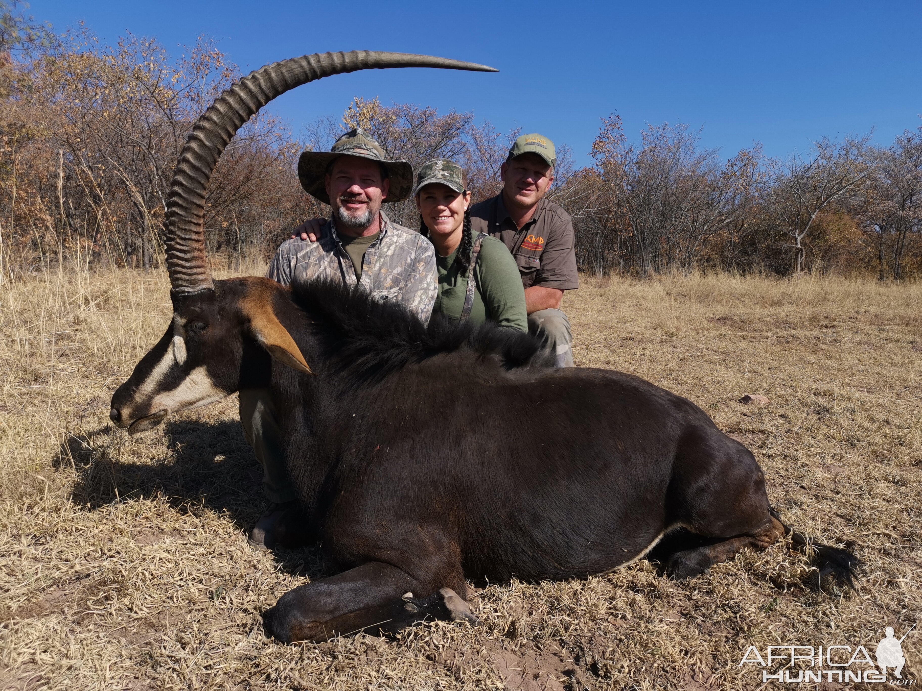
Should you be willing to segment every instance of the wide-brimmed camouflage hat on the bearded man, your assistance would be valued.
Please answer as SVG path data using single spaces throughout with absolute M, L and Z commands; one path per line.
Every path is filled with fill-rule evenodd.
M 410 188 L 413 187 L 413 167 L 405 160 L 389 160 L 381 145 L 366 135 L 361 127 L 341 135 L 329 151 L 305 151 L 301 154 L 298 159 L 298 178 L 304 192 L 329 204 L 324 180 L 326 167 L 340 156 L 371 158 L 384 166 L 391 181 L 391 188 L 384 197 L 385 202 L 399 202 L 409 196 Z

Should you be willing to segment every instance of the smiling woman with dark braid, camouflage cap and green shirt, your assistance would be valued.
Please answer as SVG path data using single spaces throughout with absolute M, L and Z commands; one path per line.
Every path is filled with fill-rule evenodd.
M 413 188 L 420 210 L 420 233 L 435 246 L 439 296 L 433 312 L 474 323 L 487 320 L 528 331 L 525 289 L 518 266 L 501 240 L 470 227 L 461 167 L 446 158 L 426 163 Z

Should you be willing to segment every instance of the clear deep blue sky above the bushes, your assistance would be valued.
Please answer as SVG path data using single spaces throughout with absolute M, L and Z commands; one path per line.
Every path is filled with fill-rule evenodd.
M 107 43 L 131 31 L 171 53 L 199 34 L 244 73 L 303 53 L 388 50 L 491 64 L 498 75 L 442 70 L 329 77 L 268 107 L 297 133 L 354 96 L 473 111 L 573 148 L 617 112 L 635 139 L 647 124 L 703 127 L 725 157 L 762 142 L 771 156 L 822 135 L 922 124 L 922 0 L 877 2 L 532 3 L 80 2 L 34 0 L 55 29 L 84 21 Z

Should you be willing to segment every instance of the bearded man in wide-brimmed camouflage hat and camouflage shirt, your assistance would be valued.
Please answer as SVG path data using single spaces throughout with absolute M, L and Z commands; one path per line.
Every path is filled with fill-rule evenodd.
M 301 186 L 332 208 L 319 241 L 287 240 L 268 277 L 282 285 L 327 278 L 360 287 L 373 299 L 396 301 L 428 322 L 438 295 L 435 252 L 416 231 L 389 221 L 384 202 L 406 199 L 413 188 L 407 161 L 388 160 L 361 128 L 340 136 L 329 151 L 305 151 L 298 161 Z M 263 465 L 263 488 L 271 502 L 250 541 L 267 547 L 302 545 L 309 535 L 285 469 L 272 400 L 265 389 L 240 392 L 246 440 Z

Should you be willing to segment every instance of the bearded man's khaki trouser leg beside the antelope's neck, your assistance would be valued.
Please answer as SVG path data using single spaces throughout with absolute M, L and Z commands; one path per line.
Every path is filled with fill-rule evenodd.
M 276 408 L 267 389 L 241 389 L 240 422 L 243 436 L 263 466 L 263 489 L 269 501 L 284 504 L 295 498 L 285 468 Z

